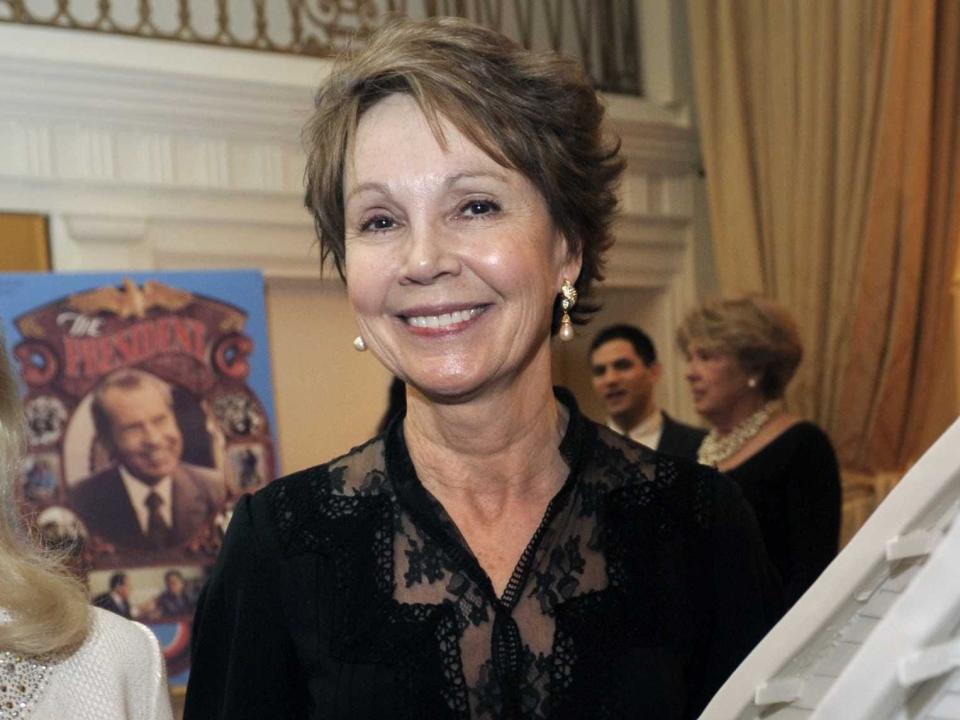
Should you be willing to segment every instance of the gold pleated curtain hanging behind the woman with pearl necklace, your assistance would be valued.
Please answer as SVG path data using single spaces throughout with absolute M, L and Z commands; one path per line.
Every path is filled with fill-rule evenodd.
M 852 467 L 915 452 L 924 378 L 946 355 L 958 7 L 688 0 L 720 287 L 797 317 L 790 404 Z

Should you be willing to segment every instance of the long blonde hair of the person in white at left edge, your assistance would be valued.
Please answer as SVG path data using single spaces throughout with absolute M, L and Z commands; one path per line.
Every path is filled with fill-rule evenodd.
M 23 451 L 23 412 L 0 335 L 0 651 L 41 656 L 69 652 L 87 636 L 83 586 L 20 530 L 13 487 Z

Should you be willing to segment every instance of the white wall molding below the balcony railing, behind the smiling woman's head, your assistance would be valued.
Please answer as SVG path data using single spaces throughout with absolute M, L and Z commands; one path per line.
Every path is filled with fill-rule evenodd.
M 0 208 L 51 216 L 61 270 L 261 267 L 316 281 L 300 131 L 329 68 L 0 25 Z M 609 285 L 669 290 L 687 271 L 699 153 L 673 94 L 605 97 L 628 162 Z

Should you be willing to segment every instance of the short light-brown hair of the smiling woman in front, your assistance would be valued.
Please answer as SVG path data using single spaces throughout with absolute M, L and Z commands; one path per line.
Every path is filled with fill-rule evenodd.
M 322 259 L 332 256 L 344 277 L 344 163 L 363 113 L 398 93 L 417 102 L 441 145 L 439 116 L 540 191 L 570 252 L 583 253 L 572 315 L 585 322 L 596 306 L 583 300 L 603 279 L 613 242 L 620 144 L 605 139 L 603 107 L 577 62 L 459 18 L 393 20 L 342 56 L 321 85 L 304 144 L 306 206 Z

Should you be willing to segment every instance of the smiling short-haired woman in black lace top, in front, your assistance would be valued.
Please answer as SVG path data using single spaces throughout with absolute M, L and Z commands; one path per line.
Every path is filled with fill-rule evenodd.
M 611 243 L 602 117 L 572 62 L 450 19 L 321 87 L 307 206 L 406 412 L 237 505 L 188 720 L 692 718 L 760 638 L 735 487 L 552 388 Z

